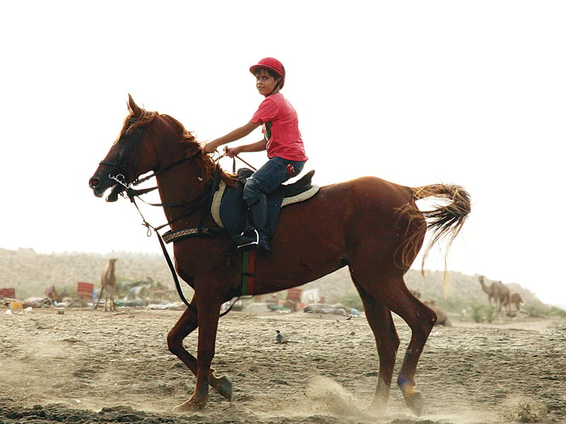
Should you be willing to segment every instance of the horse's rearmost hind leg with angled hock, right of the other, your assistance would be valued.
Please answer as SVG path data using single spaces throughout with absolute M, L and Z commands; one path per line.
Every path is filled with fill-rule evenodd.
M 403 318 L 411 329 L 411 340 L 405 351 L 397 384 L 403 392 L 406 404 L 414 413 L 420 415 L 422 395 L 415 390 L 415 372 L 424 343 L 427 342 L 437 316 L 410 293 L 405 286 L 403 276 L 398 275 L 399 269 L 394 269 L 390 273 L 381 272 L 380 275 L 374 275 L 373 278 L 364 279 L 360 276 L 362 272 L 359 268 L 353 267 L 353 269 L 355 272 L 351 271 L 352 278 L 355 278 L 369 295 Z M 376 281 L 379 281 L 379 284 Z

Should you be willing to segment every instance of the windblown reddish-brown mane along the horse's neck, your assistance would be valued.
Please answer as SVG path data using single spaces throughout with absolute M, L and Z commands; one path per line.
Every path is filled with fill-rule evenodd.
M 204 181 L 209 181 L 214 178 L 214 172 L 216 171 L 216 162 L 212 158 L 202 151 L 202 146 L 199 141 L 195 138 L 191 131 L 185 129 L 185 126 L 181 124 L 177 119 L 171 117 L 168 114 L 159 114 L 158 112 L 148 112 L 141 109 L 141 117 L 136 117 L 136 121 L 129 126 L 127 131 L 132 131 L 137 127 L 143 127 L 153 122 L 154 119 L 158 118 L 163 120 L 168 126 L 173 128 L 180 138 L 182 143 L 186 143 L 187 146 L 187 158 L 195 158 L 197 165 L 200 167 L 202 172 L 202 177 Z M 129 115 L 126 117 L 126 122 L 129 118 L 133 118 L 134 112 L 130 111 Z M 226 184 L 234 185 L 236 184 L 236 177 L 222 168 L 220 168 L 220 178 Z

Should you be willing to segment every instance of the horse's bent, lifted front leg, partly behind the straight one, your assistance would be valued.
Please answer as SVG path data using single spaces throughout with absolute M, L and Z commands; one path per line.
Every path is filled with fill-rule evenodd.
M 195 299 L 190 302 L 191 307 L 187 307 L 185 312 L 181 315 L 178 322 L 173 326 L 173 329 L 169 331 L 167 335 L 167 346 L 169 351 L 173 353 L 173 355 L 177 356 L 192 373 L 196 376 L 197 375 L 197 358 L 191 355 L 185 346 L 183 346 L 183 340 L 187 337 L 192 331 L 194 331 L 198 323 L 197 317 L 197 308 Z M 228 399 L 229 401 L 232 400 L 232 383 L 228 379 L 228 377 L 216 377 L 214 375 L 214 370 L 211 368 L 210 376 L 209 376 L 209 384 L 212 386 L 213 389 L 218 391 L 221 396 Z

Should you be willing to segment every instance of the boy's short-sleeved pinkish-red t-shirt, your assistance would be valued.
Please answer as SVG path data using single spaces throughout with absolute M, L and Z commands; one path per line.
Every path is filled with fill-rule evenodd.
M 307 160 L 299 118 L 289 100 L 281 93 L 267 96 L 253 114 L 251 122 L 261 122 L 267 141 L 267 157 L 287 160 Z

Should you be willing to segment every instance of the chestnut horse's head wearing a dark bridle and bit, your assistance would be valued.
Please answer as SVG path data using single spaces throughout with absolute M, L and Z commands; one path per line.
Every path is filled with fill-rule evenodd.
M 124 120 L 117 141 L 112 144 L 106 157 L 100 161 L 88 185 L 97 197 L 112 187 L 106 201 L 115 201 L 139 175 L 154 170 L 157 166 L 155 133 L 146 127 L 158 116 L 157 112 L 146 112 L 131 95 L 128 95 L 129 114 Z M 151 132 L 151 134 L 147 134 Z

